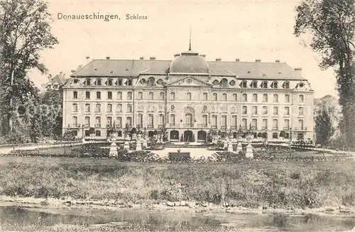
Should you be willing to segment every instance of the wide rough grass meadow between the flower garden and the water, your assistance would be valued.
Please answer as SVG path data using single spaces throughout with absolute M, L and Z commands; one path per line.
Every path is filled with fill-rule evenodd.
M 353 206 L 354 165 L 352 160 L 157 164 L 111 159 L 3 157 L 0 194 L 131 204 L 184 200 L 228 202 L 246 207 Z

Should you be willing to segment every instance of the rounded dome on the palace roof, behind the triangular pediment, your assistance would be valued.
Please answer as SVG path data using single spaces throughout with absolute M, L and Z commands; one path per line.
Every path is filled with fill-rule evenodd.
M 188 50 L 171 62 L 170 73 L 208 74 L 208 63 L 199 53 Z

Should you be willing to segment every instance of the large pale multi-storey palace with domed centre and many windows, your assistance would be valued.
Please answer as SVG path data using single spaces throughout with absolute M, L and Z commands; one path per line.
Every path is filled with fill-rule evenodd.
M 191 48 L 173 60 L 92 60 L 62 87 L 63 133 L 107 138 L 115 125 L 119 136 L 126 127 L 149 136 L 166 128 L 171 142 L 248 129 L 312 140 L 314 91 L 301 70 L 280 60 L 207 61 Z

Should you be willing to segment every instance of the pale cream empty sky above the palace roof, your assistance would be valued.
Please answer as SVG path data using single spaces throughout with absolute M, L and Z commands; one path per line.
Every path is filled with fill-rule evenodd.
M 302 67 L 315 97 L 337 96 L 333 70 L 318 67 L 319 56 L 305 46 L 310 36 L 293 35 L 295 6 L 300 1 L 54 1 L 48 2 L 52 14 L 52 33 L 59 44 L 43 50 L 41 62 L 48 74 L 64 72 L 87 60 L 139 59 L 155 56 L 173 60 L 175 53 L 188 49 L 190 28 L 192 50 L 206 54 L 207 60 L 286 62 Z M 64 19 L 68 15 L 113 15 L 120 18 Z M 147 19 L 126 19 L 126 14 Z M 40 86 L 48 75 L 31 71 Z

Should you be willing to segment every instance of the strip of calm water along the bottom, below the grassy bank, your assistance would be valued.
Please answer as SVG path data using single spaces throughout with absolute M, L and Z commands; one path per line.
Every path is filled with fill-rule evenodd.
M 144 226 L 150 231 L 222 230 L 226 227 L 242 231 L 351 231 L 355 216 L 290 216 L 285 214 L 241 214 L 192 210 L 143 209 L 40 209 L 1 206 L 0 221 L 23 226 L 63 224 Z

